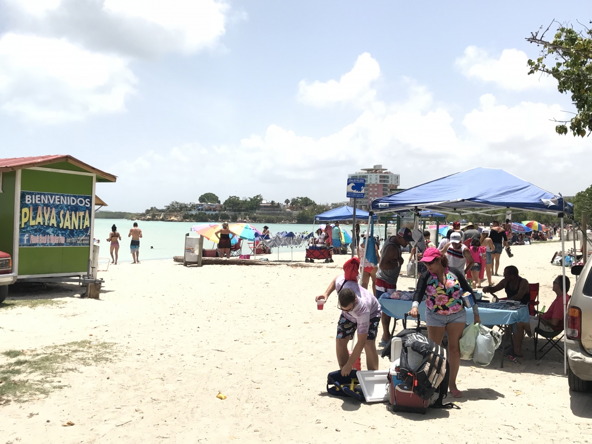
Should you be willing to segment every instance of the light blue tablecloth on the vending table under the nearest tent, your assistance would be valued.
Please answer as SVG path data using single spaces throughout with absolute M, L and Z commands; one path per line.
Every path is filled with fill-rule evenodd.
M 381 298 L 378 300 L 382 311 L 388 316 L 403 319 L 405 313 L 411 310 L 413 301 L 401 301 L 400 299 Z M 426 318 L 426 303 L 419 304 L 419 316 L 424 320 Z M 466 310 L 466 323 L 473 323 L 473 311 Z M 523 305 L 517 310 L 496 310 L 495 308 L 479 307 L 479 316 L 483 325 L 509 325 L 516 322 L 528 322 L 530 313 L 527 305 Z

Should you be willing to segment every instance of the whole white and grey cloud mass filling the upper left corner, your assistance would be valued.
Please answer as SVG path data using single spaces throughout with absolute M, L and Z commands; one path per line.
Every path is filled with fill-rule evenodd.
M 215 47 L 230 9 L 215 0 L 5 1 L 0 107 L 45 123 L 125 110 L 132 60 Z

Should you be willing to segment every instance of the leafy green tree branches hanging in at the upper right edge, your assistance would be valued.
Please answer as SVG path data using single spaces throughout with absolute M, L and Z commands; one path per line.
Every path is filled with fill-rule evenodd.
M 538 59 L 528 60 L 528 73 L 550 75 L 558 82 L 559 92 L 571 92 L 571 101 L 577 113 L 571 120 L 555 120 L 559 123 L 555 131 L 567 134 L 569 123 L 574 136 L 584 137 L 586 130 L 588 133 L 592 131 L 592 30 L 586 28 L 585 31 L 576 31 L 571 26 L 558 23 L 553 40 L 545 40 L 545 33 L 554 23 L 558 22 L 551 22 L 542 33 L 540 27 L 526 38 L 530 43 L 542 47 Z M 552 64 L 546 65 L 546 59 L 552 59 Z

